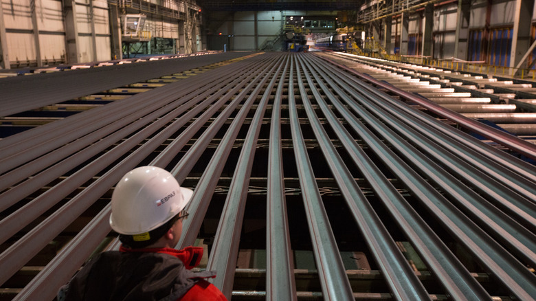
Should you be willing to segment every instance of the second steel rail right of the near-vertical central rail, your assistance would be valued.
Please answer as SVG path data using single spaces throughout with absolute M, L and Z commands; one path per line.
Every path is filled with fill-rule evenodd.
M 314 99 L 317 104 L 322 106 L 322 96 L 319 90 L 324 91 L 329 100 L 333 100 L 335 96 L 329 92 L 329 87 L 326 87 L 322 80 L 315 74 L 311 65 L 304 63 L 304 59 L 298 56 L 301 69 L 304 71 L 305 78 Z M 309 65 L 306 67 L 306 65 Z M 315 81 L 309 75 L 313 74 Z M 298 68 L 298 82 L 301 83 L 300 69 Z M 318 85 L 319 88 L 315 88 Z M 300 88 L 302 85 L 300 85 Z M 386 277 L 387 285 L 392 293 L 392 297 L 395 300 L 429 300 L 429 295 L 423 284 L 418 280 L 415 272 L 410 264 L 403 256 L 400 249 L 390 236 L 387 228 L 375 211 L 372 209 L 370 203 L 361 192 L 359 186 L 355 182 L 354 177 L 350 174 L 348 168 L 344 165 L 342 158 L 338 155 L 335 146 L 331 143 L 328 134 L 320 124 L 318 116 L 311 106 L 311 100 L 306 95 L 305 91 L 302 92 L 302 102 L 305 107 L 305 111 L 311 123 L 315 137 L 324 159 L 328 162 L 328 168 L 331 170 L 337 185 L 341 190 L 341 194 L 346 200 L 350 212 L 359 226 L 359 231 L 366 239 L 367 245 L 370 248 L 373 256 L 379 265 L 379 269 Z M 327 115 L 328 122 L 333 123 L 333 116 Z M 462 296 L 460 293 L 456 293 L 456 296 Z

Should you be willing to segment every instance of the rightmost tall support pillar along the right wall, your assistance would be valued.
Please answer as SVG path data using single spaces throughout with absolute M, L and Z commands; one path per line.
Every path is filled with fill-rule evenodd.
M 533 11 L 533 0 L 515 1 L 510 67 L 520 65 L 524 54 L 528 51 L 528 48 L 531 47 L 531 21 L 533 19 Z M 517 70 L 513 75 L 520 73 L 521 72 Z

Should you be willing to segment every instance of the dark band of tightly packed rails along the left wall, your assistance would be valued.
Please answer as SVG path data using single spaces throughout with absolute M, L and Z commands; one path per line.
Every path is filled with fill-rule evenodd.
M 63 71 L 56 74 L 34 74 L 20 78 L 0 80 L 0 94 L 3 96 L 0 116 L 44 107 L 49 104 L 86 96 L 91 93 L 127 85 L 131 82 L 156 78 L 201 67 L 207 63 L 238 58 L 250 53 L 212 54 L 170 60 L 156 60 L 129 65 L 114 65 L 91 69 Z M 74 89 L 65 89 L 74 87 Z M 30 88 L 30 89 L 29 89 Z M 34 91 L 39 91 L 36 97 Z

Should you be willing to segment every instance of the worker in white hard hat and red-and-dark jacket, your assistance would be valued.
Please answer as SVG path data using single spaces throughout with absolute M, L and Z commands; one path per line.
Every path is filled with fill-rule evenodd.
M 110 225 L 119 251 L 102 252 L 62 287 L 58 300 L 227 300 L 205 280 L 215 273 L 190 271 L 202 247 L 175 249 L 193 191 L 170 172 L 143 166 L 128 172 L 112 194 Z

